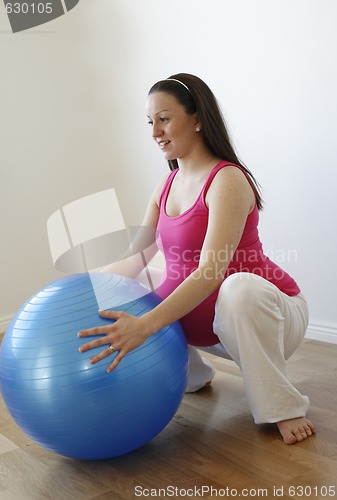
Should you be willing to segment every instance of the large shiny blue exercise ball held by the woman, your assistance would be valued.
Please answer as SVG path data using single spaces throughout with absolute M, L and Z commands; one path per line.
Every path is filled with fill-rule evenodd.
M 31 297 L 0 349 L 0 389 L 14 421 L 45 448 L 88 460 L 129 453 L 158 435 L 181 403 L 188 367 L 178 322 L 128 353 L 110 374 L 106 368 L 116 353 L 91 365 L 102 347 L 80 353 L 88 339 L 77 333 L 111 321 L 98 314 L 96 289 L 109 299 L 109 309 L 134 316 L 160 302 L 134 280 L 94 274 L 95 289 L 92 274 L 84 273 Z

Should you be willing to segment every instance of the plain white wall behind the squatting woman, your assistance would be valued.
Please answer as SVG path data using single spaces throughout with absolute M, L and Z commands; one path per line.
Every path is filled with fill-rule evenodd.
M 140 222 L 166 168 L 146 93 L 185 71 L 214 90 L 264 188 L 261 236 L 308 298 L 309 335 L 337 342 L 335 0 L 81 0 L 16 35 L 0 19 L 0 325 L 59 276 L 57 208 L 115 187 Z

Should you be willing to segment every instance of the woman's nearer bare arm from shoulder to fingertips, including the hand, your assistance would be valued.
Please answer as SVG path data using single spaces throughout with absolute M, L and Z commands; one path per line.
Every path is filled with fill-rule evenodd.
M 206 202 L 209 222 L 198 268 L 163 302 L 143 316 L 104 311 L 101 312 L 103 317 L 116 321 L 79 333 L 81 337 L 106 334 L 106 337 L 84 344 L 82 352 L 108 343 L 119 351 L 108 371 L 116 368 L 123 357 L 146 338 L 185 316 L 221 285 L 255 199 L 244 174 L 236 167 L 227 167 L 215 176 Z M 91 361 L 96 363 L 109 354 L 111 350 L 107 348 Z

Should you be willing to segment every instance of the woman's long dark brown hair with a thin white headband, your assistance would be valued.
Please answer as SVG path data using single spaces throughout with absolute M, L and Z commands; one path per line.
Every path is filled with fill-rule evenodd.
M 178 81 L 176 81 L 178 80 Z M 167 80 L 160 80 L 149 90 L 149 95 L 154 92 L 167 92 L 173 95 L 184 106 L 189 115 L 198 113 L 202 128 L 200 133 L 208 149 L 218 158 L 234 163 L 244 170 L 255 192 L 256 205 L 262 210 L 263 202 L 260 186 L 251 171 L 238 158 L 230 139 L 225 119 L 211 89 L 197 76 L 188 73 L 178 73 Z M 171 170 L 178 168 L 177 160 L 169 160 Z

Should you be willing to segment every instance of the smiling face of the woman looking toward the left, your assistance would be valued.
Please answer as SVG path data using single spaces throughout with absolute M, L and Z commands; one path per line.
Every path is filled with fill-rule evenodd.
M 152 137 L 166 160 L 184 159 L 194 149 L 200 126 L 197 113 L 188 115 L 177 99 L 167 92 L 154 92 L 147 101 Z

